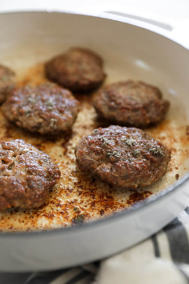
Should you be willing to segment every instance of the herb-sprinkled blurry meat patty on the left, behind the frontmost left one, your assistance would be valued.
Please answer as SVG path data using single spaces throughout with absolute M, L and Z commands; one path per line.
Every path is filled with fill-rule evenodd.
M 2 111 L 7 119 L 31 132 L 56 134 L 71 128 L 78 107 L 79 102 L 69 90 L 47 83 L 15 89 Z

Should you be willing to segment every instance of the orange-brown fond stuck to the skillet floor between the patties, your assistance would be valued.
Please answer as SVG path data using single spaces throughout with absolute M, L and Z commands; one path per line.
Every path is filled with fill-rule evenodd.
M 111 75 L 106 84 L 119 80 Z M 43 75 L 43 64 L 37 64 L 26 72 L 17 71 L 18 84 L 38 84 L 46 81 Z M 24 74 L 24 75 L 23 75 Z M 126 78 L 127 79 L 127 78 Z M 151 186 L 138 190 L 126 190 L 112 187 L 88 173 L 81 172 L 76 165 L 74 147 L 79 139 L 91 133 L 94 128 L 108 126 L 97 119 L 91 105 L 91 96 L 76 95 L 81 102 L 81 111 L 74 123 L 72 132 L 58 137 L 43 137 L 19 129 L 9 123 L 0 112 L 0 139 L 22 138 L 38 149 L 47 153 L 59 166 L 61 178 L 47 202 L 37 209 L 9 209 L 0 212 L 0 231 L 30 231 L 54 229 L 71 225 L 73 218 L 89 221 L 102 218 L 127 209 L 135 202 L 140 202 L 150 195 L 157 194 L 168 184 L 173 183 L 188 170 L 189 126 L 183 119 L 183 110 L 179 98 L 164 94 L 171 100 L 170 111 L 164 121 L 157 126 L 145 129 L 157 140 L 161 140 L 172 150 L 172 159 L 166 175 Z M 176 114 L 176 115 L 175 115 Z M 179 114 L 182 114 L 179 116 Z

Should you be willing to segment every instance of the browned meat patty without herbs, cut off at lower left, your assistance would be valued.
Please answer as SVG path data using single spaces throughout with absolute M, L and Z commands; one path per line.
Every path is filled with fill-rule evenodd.
M 47 154 L 24 140 L 0 142 L 0 210 L 39 207 L 59 178 Z

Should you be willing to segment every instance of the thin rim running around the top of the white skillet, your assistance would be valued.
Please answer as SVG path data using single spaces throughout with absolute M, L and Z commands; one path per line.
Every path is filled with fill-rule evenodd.
M 107 20 L 113 20 L 113 21 L 117 21 L 117 22 L 122 22 L 134 27 L 138 27 L 140 29 L 145 29 L 151 33 L 156 33 L 160 36 L 163 36 L 164 38 L 166 38 L 167 40 L 172 41 L 172 43 L 175 43 L 177 45 L 179 45 L 180 47 L 184 48 L 186 51 L 189 51 L 189 47 L 186 47 L 184 44 L 182 44 L 180 41 L 176 40 L 173 36 L 171 36 L 170 31 L 166 31 L 164 28 L 161 27 L 157 27 L 154 26 L 153 24 L 149 24 L 146 22 L 142 22 L 139 20 L 133 20 L 127 17 L 123 17 L 123 16 L 119 16 L 119 15 L 115 15 L 115 14 L 105 14 L 105 13 L 79 13 L 79 12 L 66 12 L 66 11 L 61 11 L 61 10 L 52 10 L 52 11 L 45 11 L 44 9 L 40 10 L 21 10 L 21 11 L 8 11 L 8 12 L 0 12 L 0 17 L 1 15 L 9 15 L 9 14 L 26 14 L 26 13 L 43 13 L 43 14 L 67 14 L 67 15 L 80 15 L 80 16 L 85 16 L 85 17 L 97 17 L 97 18 L 103 18 L 103 19 L 107 19 Z M 116 221 L 117 218 L 123 217 L 123 216 L 128 216 L 129 214 L 132 216 L 136 211 L 140 212 L 143 207 L 149 207 L 151 205 L 153 205 L 155 202 L 162 200 L 164 196 L 168 196 L 173 194 L 173 190 L 174 193 L 175 191 L 179 190 L 179 187 L 181 184 L 186 185 L 188 181 L 188 185 L 189 185 L 189 171 L 184 174 L 178 181 L 175 181 L 174 184 L 171 184 L 169 186 L 167 186 L 167 188 L 165 188 L 162 192 L 158 193 L 157 195 L 153 195 L 151 196 L 149 199 L 139 203 L 139 204 L 135 204 L 132 206 L 131 209 L 127 210 L 123 210 L 120 213 L 115 213 L 112 216 L 108 216 L 105 218 L 101 218 L 95 221 L 92 221 L 90 223 L 83 223 L 81 225 L 77 225 L 77 226 L 70 226 L 70 227 L 63 227 L 63 228 L 58 228 L 58 229 L 46 229 L 46 230 L 38 230 L 38 231 L 29 231 L 29 232 L 1 232 L 0 233 L 0 238 L 3 237 L 8 237 L 9 239 L 11 238 L 15 238 L 15 237 L 24 237 L 25 235 L 30 235 L 30 236 L 43 236 L 45 235 L 54 235 L 60 232 L 64 232 L 64 233 L 69 233 L 69 232 L 79 232 L 79 231 L 83 231 L 84 229 L 87 230 L 88 228 L 90 229 L 91 227 L 95 227 L 99 224 L 103 224 L 103 223 L 110 223 L 111 221 Z

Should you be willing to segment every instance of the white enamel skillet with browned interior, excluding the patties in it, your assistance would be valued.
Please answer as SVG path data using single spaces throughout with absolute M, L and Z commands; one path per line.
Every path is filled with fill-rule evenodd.
M 93 94 L 75 94 L 81 112 L 66 136 L 31 135 L 0 114 L 1 140 L 24 139 L 49 154 L 62 173 L 44 206 L 0 213 L 2 271 L 58 269 L 110 256 L 160 230 L 188 203 L 189 52 L 170 40 L 169 29 L 115 15 L 103 17 L 1 14 L 0 62 L 16 71 L 18 85 L 38 84 L 46 80 L 47 59 L 71 46 L 84 46 L 104 59 L 105 84 L 133 78 L 157 85 L 170 100 L 170 111 L 165 121 L 145 130 L 172 149 L 167 173 L 134 192 L 111 188 L 77 168 L 74 145 L 94 128 L 106 126 L 91 106 Z M 85 222 L 73 227 L 78 214 Z

